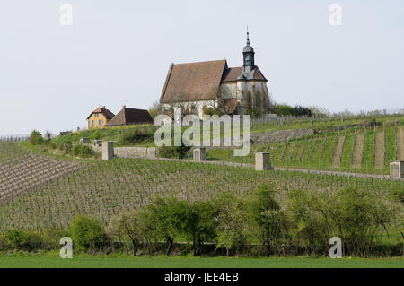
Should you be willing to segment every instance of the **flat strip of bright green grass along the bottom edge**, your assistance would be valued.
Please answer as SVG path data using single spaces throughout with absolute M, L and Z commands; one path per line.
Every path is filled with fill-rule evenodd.
M 403 258 L 0 257 L 0 268 L 404 268 Z

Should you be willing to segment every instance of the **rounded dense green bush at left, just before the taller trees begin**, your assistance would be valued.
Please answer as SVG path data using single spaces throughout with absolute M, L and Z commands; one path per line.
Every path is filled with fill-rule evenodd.
M 107 235 L 102 228 L 101 221 L 78 215 L 70 226 L 74 247 L 79 251 L 96 251 L 104 247 Z

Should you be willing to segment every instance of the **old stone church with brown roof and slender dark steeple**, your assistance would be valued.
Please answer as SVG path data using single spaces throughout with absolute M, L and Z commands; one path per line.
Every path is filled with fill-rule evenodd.
M 160 97 L 160 113 L 172 116 L 173 108 L 200 118 L 209 109 L 224 114 L 267 113 L 268 81 L 255 65 L 254 55 L 247 32 L 242 66 L 228 67 L 225 59 L 171 64 Z

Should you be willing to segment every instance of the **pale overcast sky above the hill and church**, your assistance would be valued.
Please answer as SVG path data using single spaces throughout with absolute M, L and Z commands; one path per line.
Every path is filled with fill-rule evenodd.
M 103 105 L 149 108 L 171 62 L 242 65 L 247 25 L 277 102 L 404 108 L 404 1 L 2 0 L 0 134 L 83 127 Z

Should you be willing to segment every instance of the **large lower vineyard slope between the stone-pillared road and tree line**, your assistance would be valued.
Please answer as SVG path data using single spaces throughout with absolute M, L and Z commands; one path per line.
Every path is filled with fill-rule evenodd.
M 404 189 L 402 181 L 256 172 L 168 160 L 88 160 L 72 166 L 72 161 L 30 154 L 21 150 L 18 143 L 2 142 L 1 146 L 2 191 L 13 186 L 9 191 L 11 195 L 2 197 L 0 228 L 3 231 L 66 228 L 79 213 L 93 215 L 107 223 L 112 215 L 139 208 L 157 195 L 189 202 L 207 200 L 224 192 L 248 198 L 257 186 L 265 185 L 279 191 L 282 201 L 291 190 L 333 192 L 356 186 L 389 195 Z M 22 162 L 30 168 L 20 168 Z M 13 164 L 15 168 L 7 168 Z M 12 178 L 20 178 L 14 180 L 21 185 L 15 185 Z M 4 185 L 4 182 L 12 183 Z

